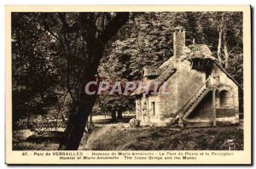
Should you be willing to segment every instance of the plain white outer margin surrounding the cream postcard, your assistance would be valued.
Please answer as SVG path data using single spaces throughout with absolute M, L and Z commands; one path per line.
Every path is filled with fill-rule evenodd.
M 108 3 L 107 3 L 108 2 Z M 147 3 L 146 3 L 147 2 Z M 0 137 L 2 139 L 0 139 L 0 148 L 2 149 L 1 153 L 0 153 L 0 159 L 1 159 L 1 165 L 3 168 L 7 168 L 7 166 L 4 164 L 4 76 L 5 76 L 5 71 L 4 71 L 4 63 L 5 63 L 5 31 L 4 31 L 4 22 L 5 22 L 5 17 L 4 17 L 4 5 L 6 4 L 38 4 L 38 5 L 53 5 L 53 4 L 61 4 L 61 5 L 65 5 L 65 4 L 106 4 L 106 5 L 112 5 L 112 4 L 177 4 L 177 5 L 183 5 L 183 4 L 251 4 L 253 5 L 253 7 L 256 6 L 256 1 L 253 0 L 233 0 L 233 1 L 228 1 L 228 0 L 215 0 L 215 1 L 205 1 L 205 0 L 193 0 L 193 1 L 189 1 L 189 0 L 179 0 L 176 2 L 171 2 L 171 1 L 167 1 L 167 0 L 157 0 L 157 1 L 153 1 L 153 0 L 147 0 L 147 1 L 143 1 L 143 0 L 125 0 L 125 1 L 120 1 L 120 0 L 108 0 L 108 1 L 104 1 L 104 0 L 94 0 L 94 1 L 83 1 L 83 0 L 73 0 L 73 1 L 68 1 L 68 0 L 44 0 L 44 1 L 32 1 L 32 0 L 2 0 L 0 1 L 0 25 L 1 25 L 1 30 L 0 30 L 0 46 L 2 47 L 0 50 L 0 77 L 1 77 L 1 82 L 0 82 L 0 110 L 1 110 L 1 118 L 0 118 L 0 123 L 2 125 L 2 131 L 0 132 Z M 255 18 L 252 17 L 253 22 L 255 21 Z M 252 28 L 253 29 L 253 28 Z M 253 40 L 255 39 L 255 34 L 253 36 Z M 252 43 L 253 47 L 255 48 L 256 45 L 255 43 Z M 253 60 L 253 64 L 255 65 L 256 61 L 255 59 Z M 248 65 L 249 66 L 249 65 Z M 253 71 L 253 78 L 255 79 L 255 72 Z M 254 100 L 253 104 L 256 104 L 256 101 Z M 254 112 L 253 112 L 254 113 Z M 254 119 L 253 121 L 255 121 L 256 115 L 253 115 Z M 253 131 L 255 135 L 255 130 Z M 255 161 L 255 155 L 253 155 L 254 159 L 253 161 Z M 1 167 L 1 168 L 2 168 Z M 21 168 L 22 166 L 18 166 L 15 168 Z M 23 166 L 24 167 L 24 166 Z M 25 166 L 28 167 L 28 166 Z M 47 168 L 53 168 L 53 166 L 44 166 Z M 61 166 L 63 167 L 63 166 Z M 73 166 L 69 166 L 70 168 Z M 68 167 L 68 168 L 69 168 Z M 82 166 L 83 167 L 83 166 Z M 88 168 L 92 168 L 93 166 L 86 166 Z M 137 166 L 131 166 L 132 168 L 137 168 Z M 148 166 L 144 166 L 144 167 L 148 167 Z M 182 166 L 182 167 L 187 167 L 187 166 Z M 197 166 L 194 166 L 197 168 Z M 222 166 L 219 168 L 233 168 L 234 166 Z M 249 166 L 247 166 L 249 167 Z M 172 166 L 172 168 L 180 168 L 178 166 Z

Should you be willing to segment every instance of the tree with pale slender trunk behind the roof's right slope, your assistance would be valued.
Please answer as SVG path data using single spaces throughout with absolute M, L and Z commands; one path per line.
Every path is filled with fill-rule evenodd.
M 210 27 L 212 31 L 218 32 L 217 56 L 218 62 L 224 68 L 228 68 L 229 66 L 230 53 L 241 51 L 241 21 L 241 12 L 205 12 L 201 16 L 201 25 L 203 27 Z M 231 49 L 229 50 L 229 48 Z

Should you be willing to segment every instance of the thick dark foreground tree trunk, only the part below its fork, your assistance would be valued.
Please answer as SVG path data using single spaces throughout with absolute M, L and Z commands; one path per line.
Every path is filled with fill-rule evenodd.
M 84 65 L 84 75 L 81 78 L 82 87 L 79 92 L 79 101 L 75 101 L 73 105 L 73 110 L 69 115 L 65 135 L 61 140 L 59 149 L 79 149 L 88 117 L 96 102 L 96 94 L 90 95 L 85 93 L 84 87 L 88 82 L 96 81 L 97 68 L 102 59 L 104 46 L 96 40 L 92 44 L 88 44 L 88 46 L 91 61 Z

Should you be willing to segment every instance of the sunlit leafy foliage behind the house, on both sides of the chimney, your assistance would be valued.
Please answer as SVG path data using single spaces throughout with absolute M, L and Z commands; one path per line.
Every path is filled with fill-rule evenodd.
M 101 67 L 107 69 L 108 74 L 112 76 L 124 76 L 126 80 L 140 80 L 144 66 L 157 67 L 172 57 L 172 30 L 177 25 L 183 25 L 186 29 L 186 45 L 192 44 L 193 38 L 196 43 L 206 43 L 217 58 L 218 25 L 222 21 L 222 16 L 224 16 L 225 38 L 229 53 L 241 54 L 241 13 L 142 13 L 130 20 L 119 31 L 117 35 L 119 38 L 106 48 L 106 59 L 102 60 Z M 222 59 L 224 57 L 223 54 Z M 228 62 L 230 63 L 230 60 Z M 117 69 L 117 66 L 121 69 Z M 100 72 L 104 70 L 101 67 Z M 106 73 L 104 75 L 106 76 Z

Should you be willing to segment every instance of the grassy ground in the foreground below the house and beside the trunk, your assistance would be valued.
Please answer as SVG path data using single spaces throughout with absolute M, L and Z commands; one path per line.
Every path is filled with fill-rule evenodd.
M 227 149 L 224 142 L 234 140 L 236 150 L 243 149 L 241 127 L 184 128 L 170 127 L 130 128 L 121 123 L 96 127 L 91 134 L 84 134 L 79 150 L 218 150 Z M 51 142 L 31 143 L 14 141 L 14 149 L 56 150 Z

